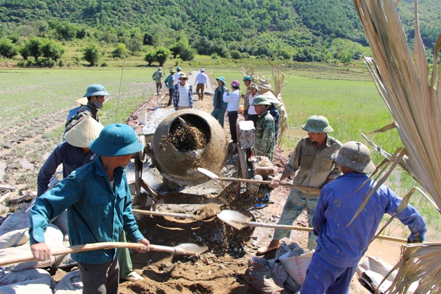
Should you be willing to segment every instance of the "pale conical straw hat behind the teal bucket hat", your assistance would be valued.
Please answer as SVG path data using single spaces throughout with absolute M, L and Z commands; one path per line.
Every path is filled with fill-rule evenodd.
M 66 142 L 75 147 L 89 148 L 90 143 L 98 138 L 103 125 L 91 117 L 86 117 L 77 123 L 64 135 Z

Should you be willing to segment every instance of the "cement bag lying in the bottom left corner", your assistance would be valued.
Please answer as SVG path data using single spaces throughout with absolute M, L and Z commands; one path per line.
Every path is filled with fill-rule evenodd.
M 42 269 L 6 273 L 0 281 L 0 294 L 52 294 L 57 284 Z M 5 284 L 8 282 L 12 284 Z

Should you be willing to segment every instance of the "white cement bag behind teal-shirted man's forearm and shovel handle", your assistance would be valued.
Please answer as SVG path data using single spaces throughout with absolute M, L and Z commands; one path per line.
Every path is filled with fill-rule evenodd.
M 54 226 L 53 224 L 49 224 L 48 229 L 46 229 L 45 233 L 45 243 L 50 247 L 50 249 L 59 249 L 63 247 L 63 233 L 61 233 L 60 229 Z M 6 255 L 21 255 L 30 253 L 30 243 L 26 242 L 25 244 L 17 247 L 11 247 L 3 250 L 3 254 Z M 43 262 L 36 262 L 31 260 L 29 262 L 21 262 L 19 264 L 10 264 L 6 266 L 7 271 L 24 271 L 25 269 L 35 269 L 35 268 L 44 268 L 50 266 L 63 258 L 64 255 L 52 256 L 50 260 L 45 260 Z

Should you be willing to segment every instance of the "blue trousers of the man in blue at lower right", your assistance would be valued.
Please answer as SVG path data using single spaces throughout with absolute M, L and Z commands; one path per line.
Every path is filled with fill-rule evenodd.
M 349 284 L 356 269 L 357 266 L 334 266 L 314 253 L 300 294 L 349 294 Z

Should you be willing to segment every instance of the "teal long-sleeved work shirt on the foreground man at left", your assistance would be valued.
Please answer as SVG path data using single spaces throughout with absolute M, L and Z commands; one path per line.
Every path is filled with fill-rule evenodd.
M 30 244 L 45 242 L 48 220 L 65 209 L 68 209 L 71 245 L 117 242 L 122 229 L 133 242 L 144 238 L 132 213 L 125 169 L 114 169 L 114 187 L 111 187 L 100 156 L 37 198 L 31 209 Z M 71 256 L 77 262 L 103 264 L 114 260 L 115 254 L 116 249 L 99 249 Z

